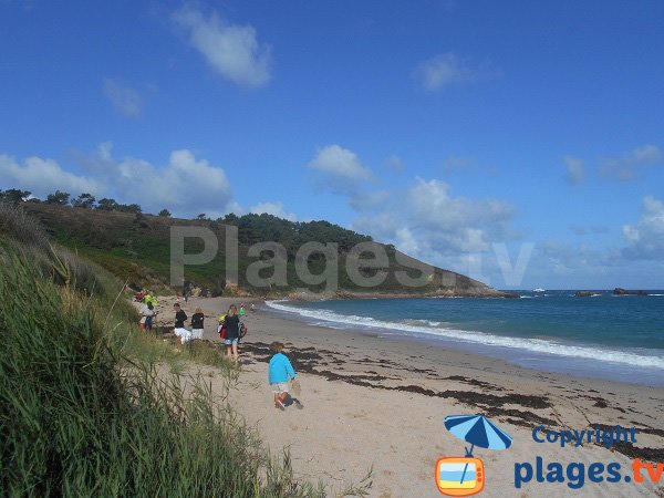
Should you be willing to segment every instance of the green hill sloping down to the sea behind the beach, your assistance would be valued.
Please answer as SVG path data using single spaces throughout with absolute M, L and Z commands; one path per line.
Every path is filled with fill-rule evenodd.
M 295 290 L 324 292 L 332 297 L 364 297 L 376 294 L 432 294 L 432 295 L 505 295 L 468 277 L 426 267 L 421 261 L 395 250 L 393 246 L 373 242 L 371 237 L 346 230 L 328 221 L 293 222 L 271 215 L 229 215 L 222 220 L 185 220 L 141 212 L 118 212 L 102 209 L 59 206 L 45 203 L 21 203 L 27 212 L 37 217 L 45 230 L 62 246 L 85 256 L 134 288 L 153 289 L 170 286 L 172 229 L 208 229 L 217 241 L 215 257 L 203 264 L 186 266 L 184 279 L 189 287 L 199 288 L 212 295 L 247 293 L 252 295 L 288 295 Z M 227 241 L 237 229 L 237 281 L 227 278 Z M 229 238 L 230 237 L 230 238 Z M 257 242 L 274 241 L 282 247 L 283 259 L 276 260 L 268 250 L 251 252 Z M 334 262 L 321 252 L 311 252 L 307 260 L 300 258 L 301 268 L 311 276 L 329 270 L 325 281 L 303 281 L 298 273 L 298 251 L 307 245 L 334 243 L 338 260 Z M 353 256 L 357 243 L 373 246 L 384 251 L 386 260 L 375 263 L 367 252 Z M 231 245 L 232 247 L 234 245 Z M 186 238 L 184 252 L 198 253 L 204 249 L 199 238 Z M 277 274 L 276 261 L 283 264 L 281 281 L 270 281 Z M 373 261 L 373 262 L 372 262 Z M 347 263 L 352 262 L 349 272 Z M 266 267 L 259 269 L 259 266 Z M 424 268 L 424 271 L 423 271 Z M 385 272 L 384 279 L 380 272 Z M 251 273 L 262 279 L 251 279 Z M 366 287 L 359 279 L 382 280 Z M 404 286 L 405 279 L 415 279 L 417 286 Z M 334 282 L 336 280 L 336 283 Z M 179 286 L 176 290 L 180 290 Z

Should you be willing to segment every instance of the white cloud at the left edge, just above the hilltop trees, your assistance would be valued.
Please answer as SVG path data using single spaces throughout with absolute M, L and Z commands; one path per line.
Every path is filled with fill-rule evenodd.
M 76 176 L 65 172 L 55 160 L 40 157 L 28 157 L 23 163 L 13 157 L 0 154 L 0 178 L 6 188 L 30 190 L 35 197 L 45 198 L 60 189 L 79 195 L 89 193 L 96 195 L 104 187 L 95 179 Z

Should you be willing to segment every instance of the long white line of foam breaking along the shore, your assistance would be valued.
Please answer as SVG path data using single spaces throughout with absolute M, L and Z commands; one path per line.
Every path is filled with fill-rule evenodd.
M 352 326 L 383 329 L 395 335 L 424 334 L 465 343 L 476 343 L 486 346 L 508 347 L 530 351 L 533 353 L 551 354 L 577 359 L 588 359 L 601 362 L 613 362 L 630 366 L 664 370 L 664 356 L 639 354 L 637 352 L 619 351 L 609 347 L 593 347 L 556 342 L 547 339 L 510 338 L 487 332 L 458 330 L 440 326 L 442 322 L 426 320 L 404 320 L 388 322 L 369 317 L 339 314 L 330 310 L 311 310 L 289 307 L 286 301 L 267 301 L 266 304 L 274 310 L 297 313 L 301 317 L 315 320 L 317 324 L 334 329 L 349 329 Z M 415 322 L 415 323 L 414 323 Z M 416 323 L 421 322 L 421 323 Z

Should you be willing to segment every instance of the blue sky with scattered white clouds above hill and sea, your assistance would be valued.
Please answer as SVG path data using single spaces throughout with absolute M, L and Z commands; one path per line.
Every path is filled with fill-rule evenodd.
M 664 2 L 0 0 L 0 189 L 664 288 Z

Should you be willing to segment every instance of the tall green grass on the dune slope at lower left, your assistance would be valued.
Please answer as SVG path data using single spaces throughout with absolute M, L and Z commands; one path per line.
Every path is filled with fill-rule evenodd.
M 270 458 L 203 377 L 185 392 L 178 375 L 166 374 L 173 346 L 141 333 L 135 312 L 110 289 L 75 286 L 74 257 L 43 253 L 48 271 L 28 259 L 35 248 L 2 247 L 4 496 L 324 496 L 321 485 L 293 478 L 288 457 Z M 70 278 L 59 279 L 61 271 Z M 228 387 L 237 378 L 205 344 L 183 354 L 216 364 Z M 343 492 L 364 495 L 367 486 Z

